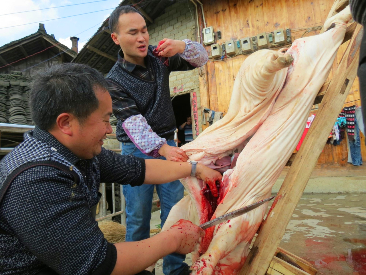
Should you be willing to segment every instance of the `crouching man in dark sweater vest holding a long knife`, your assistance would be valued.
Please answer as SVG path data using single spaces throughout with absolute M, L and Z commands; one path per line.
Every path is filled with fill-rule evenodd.
M 97 70 L 65 63 L 36 77 L 36 125 L 0 162 L 0 275 L 133 275 L 169 253 L 190 253 L 204 231 L 180 220 L 145 241 L 109 243 L 95 220 L 100 182 L 161 184 L 194 172 L 189 162 L 142 159 L 102 147 L 112 99 Z M 221 174 L 197 164 L 196 177 Z

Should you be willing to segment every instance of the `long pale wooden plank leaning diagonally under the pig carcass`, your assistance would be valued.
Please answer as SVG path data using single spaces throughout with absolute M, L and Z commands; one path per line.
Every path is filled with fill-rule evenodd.
M 302 192 L 304 191 L 317 159 L 323 150 L 339 109 L 347 97 L 348 91 L 357 74 L 359 46 L 362 39 L 362 27 L 358 25 L 352 36 L 336 77 L 330 82 L 322 104 L 307 133 L 303 145 L 272 204 L 270 213 L 261 225 L 261 230 L 254 242 L 253 249 L 240 271 L 240 275 L 264 275 L 276 252 L 288 222 L 291 219 Z M 307 167 L 307 169 L 303 169 Z M 255 253 L 254 253 L 255 252 Z

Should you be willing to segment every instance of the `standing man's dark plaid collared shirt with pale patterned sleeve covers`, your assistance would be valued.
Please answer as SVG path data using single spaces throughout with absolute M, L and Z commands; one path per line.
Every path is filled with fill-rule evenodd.
M 191 40 L 183 40 L 186 48 L 182 54 L 176 54 L 168 58 L 168 69 L 172 71 L 192 70 L 203 66 L 208 61 L 206 49 L 199 43 Z M 150 64 L 149 56 L 145 58 L 146 67 L 135 65 L 123 58 L 123 52 L 118 55 L 118 64 L 131 74 L 143 80 L 154 80 L 154 72 Z M 160 62 L 164 63 L 165 58 Z M 166 143 L 166 139 L 158 136 L 154 129 L 147 124 L 136 102 L 127 95 L 123 88 L 112 80 L 109 83 L 109 93 L 112 97 L 113 113 L 117 119 L 123 122 L 123 129 L 129 133 L 131 141 L 146 155 L 158 157 L 158 149 Z M 146 138 L 141 138 L 142 136 Z

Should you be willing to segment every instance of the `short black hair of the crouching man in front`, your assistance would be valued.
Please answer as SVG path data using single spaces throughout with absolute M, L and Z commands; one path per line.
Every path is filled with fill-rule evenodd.
M 96 87 L 108 83 L 96 69 L 77 63 L 48 67 L 31 83 L 29 105 L 34 124 L 44 130 L 55 125 L 59 114 L 71 113 L 83 123 L 98 109 Z

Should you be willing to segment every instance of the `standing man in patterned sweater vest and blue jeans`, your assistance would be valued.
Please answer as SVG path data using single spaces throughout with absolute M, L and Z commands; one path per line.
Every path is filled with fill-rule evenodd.
M 157 48 L 149 45 L 149 33 L 141 13 L 130 6 L 116 8 L 109 17 L 111 37 L 121 47 L 118 60 L 108 73 L 108 91 L 118 119 L 117 139 L 123 155 L 186 162 L 187 155 L 176 147 L 176 121 L 169 91 L 172 71 L 195 69 L 208 61 L 205 48 L 190 40 L 164 38 Z M 161 203 L 161 227 L 169 211 L 183 198 L 177 181 L 156 186 Z M 124 186 L 126 197 L 126 241 L 150 236 L 154 186 Z M 164 258 L 165 275 L 190 274 L 185 256 Z

